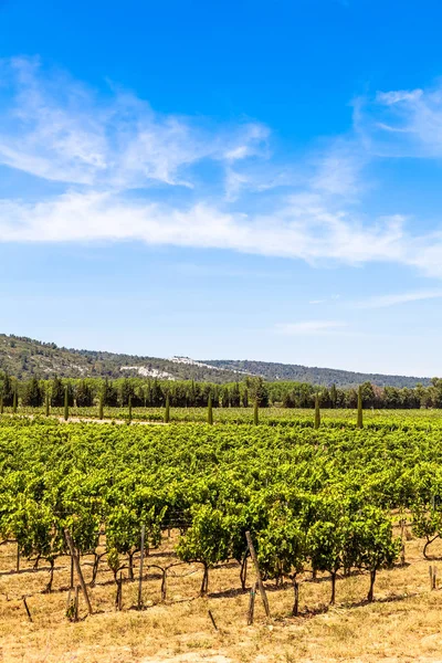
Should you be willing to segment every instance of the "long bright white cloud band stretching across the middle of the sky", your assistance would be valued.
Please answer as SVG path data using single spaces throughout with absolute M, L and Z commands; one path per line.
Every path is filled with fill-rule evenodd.
M 70 191 L 48 201 L 0 201 L 0 241 L 141 240 L 148 244 L 233 249 L 347 264 L 403 260 L 401 220 L 371 225 L 292 197 L 270 214 L 223 211 L 199 202 L 188 208 L 134 201 L 112 192 Z

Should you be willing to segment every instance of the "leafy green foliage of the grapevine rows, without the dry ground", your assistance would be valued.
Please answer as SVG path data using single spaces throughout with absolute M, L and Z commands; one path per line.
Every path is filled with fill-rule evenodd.
M 372 599 L 377 570 L 398 555 L 388 512 L 411 508 L 414 533 L 430 540 L 441 532 L 432 499 L 442 486 L 440 414 L 368 412 L 373 423 L 357 430 L 354 413 L 334 410 L 315 430 L 311 411 L 291 410 L 281 424 L 267 410 L 259 428 L 250 411 L 232 408 L 213 428 L 3 417 L 0 536 L 17 538 L 22 555 L 54 560 L 65 552 L 65 527 L 83 555 L 97 555 L 104 527 L 116 577 L 131 567 L 143 524 L 152 547 L 176 527 L 180 559 L 203 566 L 204 593 L 211 567 L 243 561 L 250 530 L 266 578 L 292 580 L 295 613 L 303 568 L 330 573 L 332 600 L 340 571 L 367 570 Z M 196 412 L 206 421 L 206 410 Z M 229 423 L 239 413 L 249 423 Z

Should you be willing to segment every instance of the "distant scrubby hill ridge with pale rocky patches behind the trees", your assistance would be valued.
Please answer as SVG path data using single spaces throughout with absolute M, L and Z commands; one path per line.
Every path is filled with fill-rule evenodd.
M 370 381 L 378 387 L 415 387 L 430 383 L 429 378 L 364 373 L 335 368 L 316 368 L 295 364 L 232 359 L 190 359 L 124 355 L 99 350 L 61 348 L 24 336 L 0 334 L 0 371 L 25 380 L 32 376 L 66 378 L 139 376 L 169 380 L 233 382 L 246 376 L 261 376 L 270 381 L 296 381 L 314 385 L 354 387 Z

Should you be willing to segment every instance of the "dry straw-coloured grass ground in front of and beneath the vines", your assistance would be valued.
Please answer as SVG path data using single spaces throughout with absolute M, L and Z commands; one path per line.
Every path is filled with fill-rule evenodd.
M 164 548 L 154 551 L 148 562 L 170 562 L 170 544 L 166 539 Z M 442 544 L 435 541 L 430 550 L 442 556 Z M 193 598 L 201 581 L 198 567 L 177 567 L 177 576 L 194 572 L 170 576 L 167 603 L 160 602 L 159 575 L 146 569 L 146 609 L 130 609 L 136 603 L 137 583 L 125 582 L 123 611 L 116 612 L 115 583 L 104 562 L 97 586 L 91 589 L 95 614 L 86 618 L 82 601 L 84 619 L 71 623 L 65 617 L 67 592 L 63 589 L 69 583 L 69 559 L 57 560 L 54 591 L 43 594 L 46 571 L 4 572 L 14 568 L 14 555 L 13 544 L 0 547 L 2 663 L 442 661 L 442 591 L 429 589 L 429 562 L 422 558 L 422 541 L 407 544 L 408 566 L 379 573 L 373 603 L 362 601 L 368 577 L 354 575 L 338 581 L 337 606 L 327 609 L 328 579 L 313 582 L 307 575 L 301 587 L 302 617 L 290 617 L 290 586 L 276 590 L 267 583 L 272 619 L 264 619 L 256 599 L 253 627 L 245 623 L 249 594 L 238 590 L 235 564 L 211 571 L 207 599 Z M 30 567 L 22 564 L 23 570 Z M 442 561 L 440 568 L 442 572 Z M 88 579 L 91 565 L 84 569 Z M 29 597 L 33 623 L 28 621 L 23 594 Z

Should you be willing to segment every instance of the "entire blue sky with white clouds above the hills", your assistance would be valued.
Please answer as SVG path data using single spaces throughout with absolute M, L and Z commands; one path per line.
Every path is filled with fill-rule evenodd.
M 0 329 L 442 375 L 436 1 L 0 1 Z

